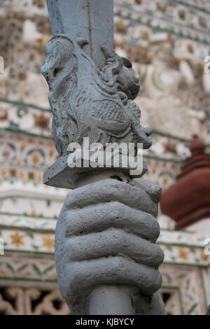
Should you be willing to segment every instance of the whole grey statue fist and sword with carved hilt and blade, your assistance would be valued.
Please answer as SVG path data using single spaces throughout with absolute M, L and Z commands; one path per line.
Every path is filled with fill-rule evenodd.
M 163 253 L 155 244 L 161 189 L 122 168 L 117 175 L 106 168 L 103 175 L 90 175 L 86 168 L 73 179 L 76 169 L 66 160 L 69 144 L 82 145 L 83 137 L 103 146 L 151 146 L 151 130 L 141 127 L 133 101 L 139 77 L 112 49 L 113 1 L 48 0 L 48 10 L 55 35 L 46 45 L 42 72 L 60 158 L 44 181 L 75 188 L 56 228 L 59 289 L 73 314 L 165 314 L 156 293 L 162 281 Z

